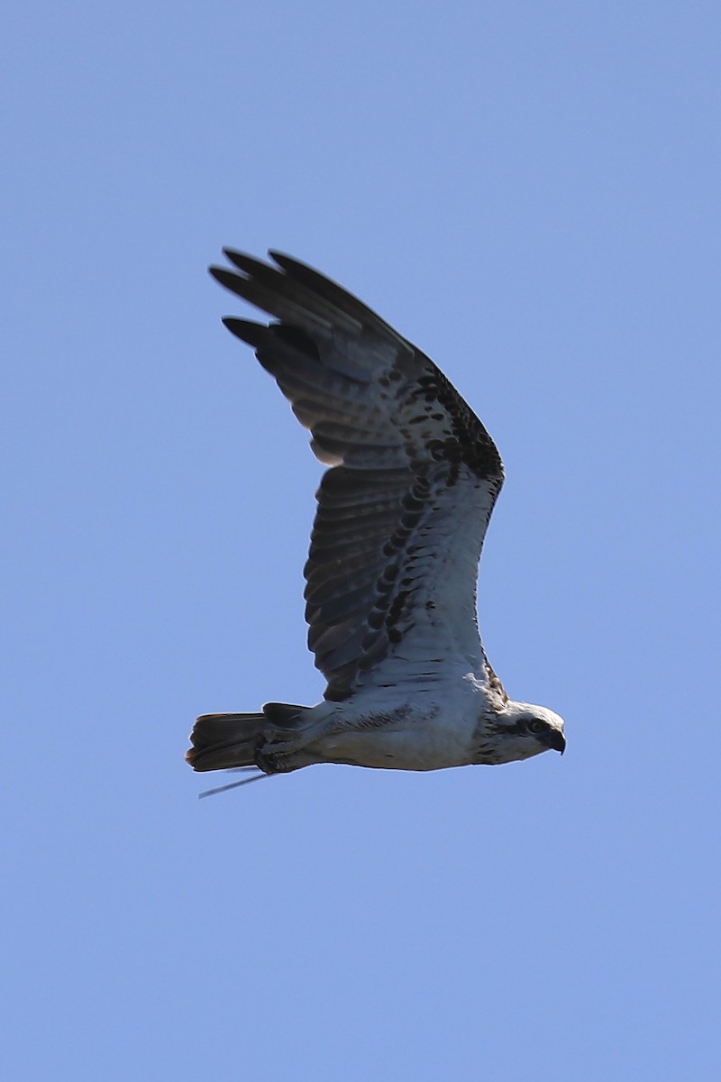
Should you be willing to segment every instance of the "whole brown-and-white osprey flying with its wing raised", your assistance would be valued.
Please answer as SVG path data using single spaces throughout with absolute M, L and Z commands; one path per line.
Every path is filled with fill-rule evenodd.
M 308 645 L 328 686 L 315 707 L 199 717 L 188 763 L 437 770 L 563 752 L 563 721 L 509 699 L 479 637 L 478 562 L 504 479 L 481 422 L 425 354 L 329 278 L 279 252 L 276 266 L 225 254 L 235 269 L 213 277 L 272 322 L 224 322 L 329 466 L 305 567 Z

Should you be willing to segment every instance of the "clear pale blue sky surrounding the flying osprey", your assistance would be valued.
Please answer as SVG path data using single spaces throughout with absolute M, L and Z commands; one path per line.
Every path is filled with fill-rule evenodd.
M 718 1078 L 718 3 L 4 22 L 3 1078 Z M 482 630 L 563 758 L 197 800 L 196 714 L 323 686 L 320 467 L 222 245 L 494 435 Z

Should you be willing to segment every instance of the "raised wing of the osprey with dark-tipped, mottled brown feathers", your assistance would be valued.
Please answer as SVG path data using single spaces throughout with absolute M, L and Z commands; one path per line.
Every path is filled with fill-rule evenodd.
M 488 432 L 419 349 L 317 270 L 225 250 L 211 274 L 272 316 L 227 317 L 331 466 L 305 569 L 308 644 L 341 700 L 450 663 L 494 681 L 476 617 L 478 560 L 503 484 Z

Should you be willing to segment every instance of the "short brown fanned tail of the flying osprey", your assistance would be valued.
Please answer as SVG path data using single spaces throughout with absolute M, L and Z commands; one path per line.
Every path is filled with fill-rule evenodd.
M 193 770 L 227 770 L 255 766 L 256 752 L 268 740 L 297 731 L 307 707 L 267 702 L 257 714 L 203 714 L 193 725 L 185 755 Z

